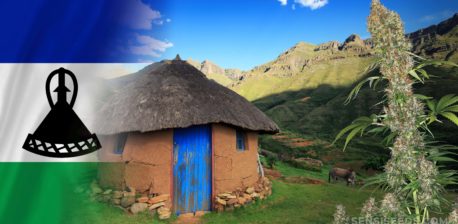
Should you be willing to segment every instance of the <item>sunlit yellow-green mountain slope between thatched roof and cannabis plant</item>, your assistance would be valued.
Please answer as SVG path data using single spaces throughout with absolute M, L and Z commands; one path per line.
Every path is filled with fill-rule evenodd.
M 256 100 L 321 84 L 349 85 L 361 78 L 373 62 L 370 44 L 355 34 L 343 43 L 299 42 L 275 60 L 247 72 L 231 88 L 249 100 Z

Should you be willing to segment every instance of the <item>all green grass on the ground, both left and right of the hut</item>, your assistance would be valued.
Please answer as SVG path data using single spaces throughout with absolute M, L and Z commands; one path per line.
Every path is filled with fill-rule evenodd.
M 284 176 L 307 176 L 325 180 L 327 171 L 311 172 L 278 163 Z M 234 211 L 210 213 L 202 217 L 204 223 L 330 223 L 337 204 L 343 204 L 350 215 L 359 214 L 362 203 L 381 193 L 370 189 L 359 190 L 344 183 L 309 185 L 273 181 L 272 195 Z M 88 200 L 81 203 L 68 217 L 68 223 L 173 223 L 176 217 L 161 221 L 148 213 L 128 215 L 114 206 Z

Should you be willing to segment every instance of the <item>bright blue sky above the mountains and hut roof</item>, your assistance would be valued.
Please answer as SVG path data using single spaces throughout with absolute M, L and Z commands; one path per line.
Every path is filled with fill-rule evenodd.
M 400 13 L 407 32 L 458 12 L 456 0 L 382 2 Z M 153 27 L 156 37 L 169 43 L 158 59 L 179 53 L 226 68 L 250 69 L 299 41 L 342 42 L 352 33 L 368 38 L 369 6 L 370 0 L 168 0 L 157 9 L 168 22 Z

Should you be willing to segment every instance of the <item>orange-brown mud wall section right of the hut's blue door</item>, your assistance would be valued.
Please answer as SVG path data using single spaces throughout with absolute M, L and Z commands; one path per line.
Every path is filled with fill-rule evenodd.
M 259 177 L 256 132 L 247 132 L 246 146 L 245 151 L 237 151 L 235 129 L 213 124 L 213 195 L 256 183 Z

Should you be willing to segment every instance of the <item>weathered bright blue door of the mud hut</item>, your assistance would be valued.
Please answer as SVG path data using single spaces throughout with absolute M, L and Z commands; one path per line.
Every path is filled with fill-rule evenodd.
M 211 127 L 173 131 L 173 203 L 177 215 L 209 211 L 211 206 Z

